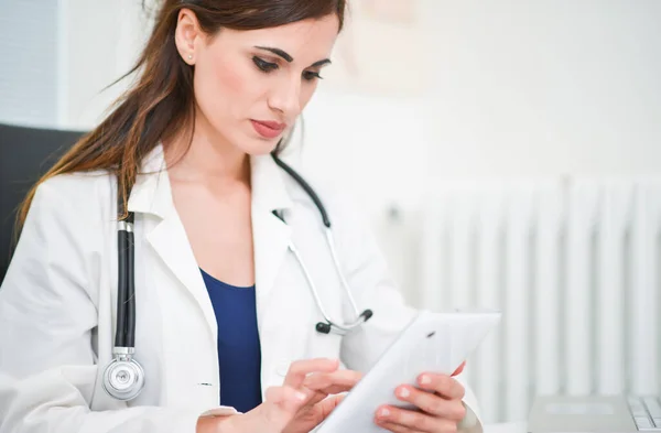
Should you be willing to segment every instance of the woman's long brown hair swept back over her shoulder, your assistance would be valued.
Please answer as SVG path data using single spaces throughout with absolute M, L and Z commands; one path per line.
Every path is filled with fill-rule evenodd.
M 118 177 L 118 195 L 126 209 L 142 158 L 161 140 L 193 125 L 193 67 L 181 58 L 174 43 L 182 9 L 195 13 L 204 32 L 216 34 L 223 28 L 256 30 L 329 14 L 338 17 L 342 30 L 345 3 L 346 0 L 164 0 L 142 54 L 122 77 L 139 71 L 137 83 L 115 102 L 110 115 L 75 143 L 29 192 L 17 215 L 18 229 L 25 221 L 39 185 L 58 174 L 109 171 Z

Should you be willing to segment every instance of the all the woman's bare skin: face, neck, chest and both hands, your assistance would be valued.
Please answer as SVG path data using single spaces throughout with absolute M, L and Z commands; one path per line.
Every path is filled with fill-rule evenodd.
M 182 59 L 194 67 L 196 120 L 191 147 L 182 131 L 164 143 L 165 160 L 174 205 L 197 263 L 220 281 L 254 284 L 249 156 L 271 152 L 292 128 L 329 63 L 337 33 L 337 17 L 328 15 L 208 35 L 194 13 L 180 12 L 175 43 Z M 267 139 L 251 120 L 286 128 Z M 258 408 L 240 415 L 201 418 L 197 432 L 310 432 L 342 401 L 337 393 L 360 379 L 360 374 L 338 366 L 330 359 L 293 362 L 283 386 L 267 390 Z M 420 388 L 433 392 L 410 386 L 395 391 L 420 411 L 384 407 L 375 422 L 392 432 L 455 431 L 465 413 L 464 388 L 434 372 L 420 380 Z

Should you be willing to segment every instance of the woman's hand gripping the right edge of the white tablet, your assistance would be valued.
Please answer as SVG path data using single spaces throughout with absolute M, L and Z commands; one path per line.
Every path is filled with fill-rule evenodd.
M 462 367 L 457 370 L 460 371 Z M 458 372 L 455 371 L 455 375 Z M 420 389 L 418 389 L 420 388 Z M 418 388 L 403 385 L 394 392 L 398 399 L 419 410 L 383 405 L 377 410 L 375 422 L 393 433 L 454 433 L 466 415 L 462 399 L 464 387 L 452 376 L 425 372 L 418 378 Z

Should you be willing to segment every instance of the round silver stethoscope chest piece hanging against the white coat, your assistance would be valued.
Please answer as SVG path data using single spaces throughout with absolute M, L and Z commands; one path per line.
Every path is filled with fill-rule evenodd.
M 143 387 L 144 369 L 130 357 L 116 357 L 104 371 L 104 389 L 117 400 L 132 400 Z

